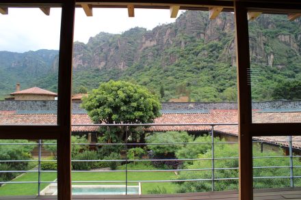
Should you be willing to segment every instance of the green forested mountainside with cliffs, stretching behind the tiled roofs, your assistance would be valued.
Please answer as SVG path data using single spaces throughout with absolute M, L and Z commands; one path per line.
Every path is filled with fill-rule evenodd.
M 301 80 L 300 46 L 300 19 L 262 14 L 250 22 L 253 100 L 277 98 L 279 84 Z M 17 81 L 23 89 L 56 91 L 57 53 L 0 52 L 0 96 L 14 91 Z M 122 34 L 99 33 L 87 44 L 75 42 L 73 68 L 74 93 L 80 86 L 92 89 L 121 79 L 146 85 L 162 100 L 188 95 L 191 101 L 236 101 L 233 14 L 209 20 L 208 12 L 188 11 L 175 23 L 150 31 L 135 27 Z

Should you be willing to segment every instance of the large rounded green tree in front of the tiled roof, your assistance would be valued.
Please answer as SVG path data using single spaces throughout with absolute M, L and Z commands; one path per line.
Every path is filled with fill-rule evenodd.
M 150 94 L 146 87 L 125 81 L 101 83 L 83 98 L 81 106 L 97 124 L 153 123 L 161 109 L 159 98 Z M 109 142 L 127 139 L 124 127 L 101 128 L 101 132 Z M 132 139 L 144 141 L 141 129 L 130 128 L 129 134 Z

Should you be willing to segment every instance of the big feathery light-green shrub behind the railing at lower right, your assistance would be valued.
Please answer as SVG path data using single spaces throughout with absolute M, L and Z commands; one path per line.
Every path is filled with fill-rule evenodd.
M 218 139 L 216 139 L 218 140 Z M 218 143 L 215 145 L 215 158 L 235 158 L 238 157 L 237 144 L 224 144 Z M 280 152 L 268 151 L 260 152 L 260 147 L 253 148 L 254 157 L 263 156 L 280 156 Z M 212 152 L 209 149 L 204 154 L 199 154 L 198 158 L 211 158 Z M 215 160 L 215 168 L 237 168 L 239 163 L 238 159 L 221 159 Z M 300 160 L 294 160 L 293 165 L 301 165 Z M 254 167 L 284 167 L 289 166 L 289 158 L 260 158 L 253 159 Z M 211 169 L 211 160 L 194 160 L 192 165 L 188 165 L 187 169 Z M 296 168 L 298 170 L 298 168 Z M 296 171 L 294 169 L 294 173 Z M 299 171 L 300 172 L 300 171 Z M 298 174 L 298 173 L 296 173 Z M 253 169 L 254 177 L 289 177 L 288 168 L 263 168 Z M 215 178 L 234 178 L 238 177 L 238 169 L 223 169 L 215 170 Z M 211 190 L 211 170 L 207 171 L 181 171 L 178 180 L 194 180 L 194 179 L 209 179 L 209 181 L 202 182 L 179 182 L 177 192 L 205 192 Z M 296 186 L 300 186 L 301 181 L 294 180 Z M 283 188 L 289 186 L 289 178 L 261 178 L 254 179 L 254 188 Z M 238 180 L 219 180 L 215 182 L 215 190 L 235 190 L 238 188 Z

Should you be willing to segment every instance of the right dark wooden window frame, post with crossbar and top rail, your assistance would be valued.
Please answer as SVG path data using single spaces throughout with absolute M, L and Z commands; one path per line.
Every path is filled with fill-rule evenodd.
M 253 199 L 252 137 L 300 135 L 300 123 L 252 123 L 248 11 L 283 13 L 301 10 L 301 4 L 235 1 L 237 87 L 239 106 L 239 199 Z M 288 21 L 289 22 L 289 21 Z

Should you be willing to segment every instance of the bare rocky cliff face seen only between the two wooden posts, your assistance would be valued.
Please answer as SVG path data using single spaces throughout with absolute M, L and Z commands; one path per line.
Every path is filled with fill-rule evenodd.
M 221 37 L 233 38 L 233 14 L 222 14 L 216 20 L 208 20 L 207 13 L 186 12 L 179 16 L 174 24 L 161 25 L 151 31 L 143 28 L 133 28 L 121 35 L 99 33 L 90 38 L 88 44 L 75 42 L 74 68 L 75 70 L 87 68 L 118 68 L 124 70 L 133 63 L 142 59 L 148 63 L 154 57 L 160 56 L 170 46 L 185 48 L 187 41 L 183 35 L 194 37 L 196 40 L 206 42 L 220 41 Z M 234 40 L 232 40 L 234 42 Z M 234 44 L 234 43 L 233 43 Z M 233 59 L 233 44 L 229 44 L 224 54 L 231 55 Z M 148 51 L 156 48 L 156 52 Z M 178 55 L 170 55 L 167 63 L 172 64 Z

